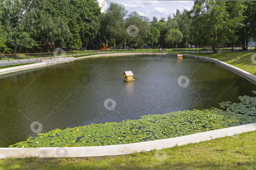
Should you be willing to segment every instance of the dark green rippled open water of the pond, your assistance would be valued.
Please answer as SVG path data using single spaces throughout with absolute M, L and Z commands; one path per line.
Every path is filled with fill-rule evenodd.
M 124 71 L 132 71 L 136 80 L 122 80 Z M 189 78 L 186 88 L 178 84 L 180 76 Z M 44 133 L 146 114 L 218 108 L 218 103 L 238 102 L 238 96 L 250 96 L 253 90 L 256 85 L 224 67 L 174 56 L 80 60 L 4 74 L 0 75 L 0 147 L 34 137 L 30 127 L 34 121 L 40 122 Z M 113 110 L 104 106 L 108 98 L 116 102 Z

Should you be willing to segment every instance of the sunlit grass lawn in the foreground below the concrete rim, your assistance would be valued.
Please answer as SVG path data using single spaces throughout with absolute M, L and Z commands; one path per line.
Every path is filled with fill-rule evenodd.
M 256 131 L 130 155 L 8 158 L 0 169 L 256 169 Z

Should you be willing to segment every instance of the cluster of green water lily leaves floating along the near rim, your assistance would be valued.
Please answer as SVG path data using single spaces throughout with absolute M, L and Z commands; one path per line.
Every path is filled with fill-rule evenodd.
M 254 92 L 255 93 L 255 92 Z M 157 139 L 174 138 L 210 130 L 256 122 L 256 97 L 239 97 L 240 103 L 220 103 L 217 108 L 185 110 L 167 114 L 141 116 L 138 120 L 106 122 L 55 129 L 39 133 L 37 138 L 9 147 L 80 147 L 129 144 Z

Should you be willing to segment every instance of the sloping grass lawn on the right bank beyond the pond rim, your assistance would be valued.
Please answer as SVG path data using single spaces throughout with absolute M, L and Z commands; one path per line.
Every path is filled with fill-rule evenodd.
M 175 52 L 175 53 L 178 53 L 178 52 Z M 215 58 L 256 75 L 256 64 L 254 64 L 251 59 L 254 53 L 223 52 L 221 54 L 212 54 L 212 55 L 211 53 L 182 53 L 182 54 L 191 54 L 196 56 L 205 56 L 205 57 Z

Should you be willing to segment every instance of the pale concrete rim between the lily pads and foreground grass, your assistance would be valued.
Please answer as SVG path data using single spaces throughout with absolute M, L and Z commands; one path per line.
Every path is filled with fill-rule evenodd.
M 125 155 L 132 152 L 151 151 L 152 149 L 170 148 L 176 145 L 181 146 L 190 143 L 198 143 L 215 138 L 233 136 L 243 132 L 256 130 L 256 123 L 212 130 L 208 132 L 195 133 L 176 138 L 159 139 L 147 142 L 107 145 L 107 146 L 87 146 L 87 147 L 49 147 L 49 148 L 0 148 L 0 159 L 8 157 L 26 158 L 30 156 L 47 157 L 90 157 L 106 155 Z

